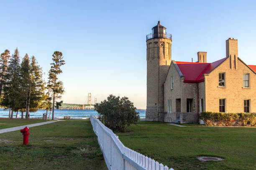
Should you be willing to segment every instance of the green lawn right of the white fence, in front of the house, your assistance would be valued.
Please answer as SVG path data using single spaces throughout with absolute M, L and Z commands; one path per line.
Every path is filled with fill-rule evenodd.
M 256 128 L 177 127 L 140 121 L 118 133 L 122 143 L 174 170 L 255 170 Z M 223 161 L 200 162 L 197 156 Z

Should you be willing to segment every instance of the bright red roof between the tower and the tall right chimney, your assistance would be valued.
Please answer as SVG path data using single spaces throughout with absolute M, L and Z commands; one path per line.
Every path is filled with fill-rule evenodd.
M 176 61 L 176 64 L 179 67 L 179 70 L 185 76 L 184 82 L 203 82 L 205 81 L 203 75 L 210 73 L 224 60 L 226 60 L 226 58 L 220 59 L 212 63 Z M 254 68 L 256 70 L 256 66 Z

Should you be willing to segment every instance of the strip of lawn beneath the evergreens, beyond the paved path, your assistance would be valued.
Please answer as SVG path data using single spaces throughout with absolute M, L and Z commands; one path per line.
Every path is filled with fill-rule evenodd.
M 49 120 L 47 120 L 49 121 Z M 15 126 L 29 125 L 33 123 L 46 122 L 42 119 L 6 119 L 0 118 L 0 129 L 12 128 Z

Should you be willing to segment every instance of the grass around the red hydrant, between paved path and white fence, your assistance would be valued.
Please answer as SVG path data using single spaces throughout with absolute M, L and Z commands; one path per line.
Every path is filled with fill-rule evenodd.
M 67 120 L 0 134 L 0 169 L 107 170 L 89 120 Z

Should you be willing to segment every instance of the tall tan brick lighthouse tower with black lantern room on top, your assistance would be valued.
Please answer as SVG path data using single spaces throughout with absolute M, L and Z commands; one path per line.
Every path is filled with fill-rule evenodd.
M 164 80 L 171 64 L 172 35 L 158 24 L 146 35 L 147 43 L 147 110 L 146 120 L 164 119 Z

